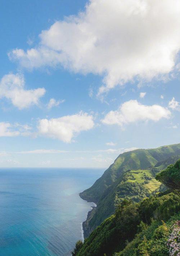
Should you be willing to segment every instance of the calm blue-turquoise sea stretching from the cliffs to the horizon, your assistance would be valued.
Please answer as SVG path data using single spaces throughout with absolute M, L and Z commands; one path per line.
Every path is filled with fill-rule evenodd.
M 65 256 L 93 203 L 78 193 L 102 169 L 0 170 L 0 256 Z

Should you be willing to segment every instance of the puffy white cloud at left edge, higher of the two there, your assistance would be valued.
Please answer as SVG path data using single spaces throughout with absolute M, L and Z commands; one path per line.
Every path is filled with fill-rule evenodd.
M 40 97 L 45 94 L 45 89 L 25 90 L 24 85 L 23 75 L 4 75 L 0 81 L 0 98 L 10 99 L 12 104 L 19 109 L 28 108 L 33 104 L 38 105 Z

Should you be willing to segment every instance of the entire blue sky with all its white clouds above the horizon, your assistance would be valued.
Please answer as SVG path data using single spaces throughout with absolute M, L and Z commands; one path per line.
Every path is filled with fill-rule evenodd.
M 0 167 L 180 143 L 179 0 L 2 0 L 0 24 Z

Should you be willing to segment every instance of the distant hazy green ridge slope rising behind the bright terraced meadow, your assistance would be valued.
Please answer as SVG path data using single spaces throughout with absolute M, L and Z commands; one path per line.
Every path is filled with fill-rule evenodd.
M 130 169 L 147 169 L 155 166 L 159 161 L 179 154 L 180 143 L 156 149 L 136 149 L 120 154 L 114 163 L 104 172 L 102 177 L 96 180 L 92 187 L 80 193 L 80 196 L 87 201 L 97 203 L 104 190 L 107 189 L 109 185 L 112 185 L 122 172 Z

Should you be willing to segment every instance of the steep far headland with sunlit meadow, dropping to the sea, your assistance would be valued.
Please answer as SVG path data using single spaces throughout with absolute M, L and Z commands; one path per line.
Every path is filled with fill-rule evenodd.
M 180 157 L 180 144 L 156 149 L 137 149 L 120 154 L 114 163 L 80 197 L 97 204 L 83 223 L 87 237 L 104 219 L 111 216 L 124 198 L 139 202 L 159 190 L 157 172 Z

